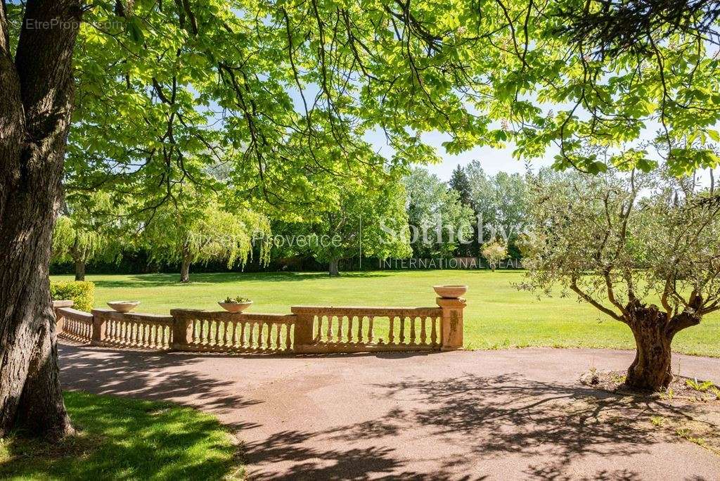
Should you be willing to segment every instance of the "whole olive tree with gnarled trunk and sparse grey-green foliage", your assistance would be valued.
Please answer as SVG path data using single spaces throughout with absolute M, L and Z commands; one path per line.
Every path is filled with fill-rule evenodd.
M 672 338 L 720 309 L 720 196 L 690 179 L 544 173 L 531 187 L 526 287 L 575 292 L 629 326 L 626 384 L 672 381 Z

